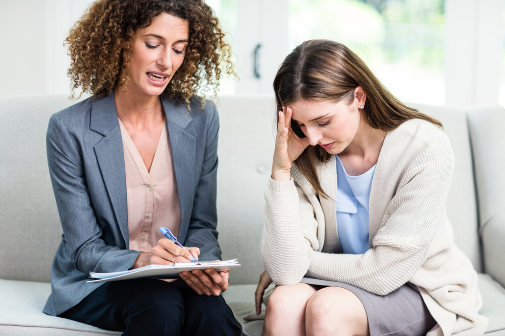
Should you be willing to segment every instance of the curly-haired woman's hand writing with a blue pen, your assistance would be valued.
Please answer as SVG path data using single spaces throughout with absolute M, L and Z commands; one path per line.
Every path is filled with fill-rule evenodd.
M 169 239 L 163 238 L 158 241 L 158 244 L 150 252 L 140 253 L 132 269 L 151 264 L 168 265 L 173 262 L 191 262 L 191 256 L 198 260 L 199 254 L 200 249 L 198 247 L 184 249 Z

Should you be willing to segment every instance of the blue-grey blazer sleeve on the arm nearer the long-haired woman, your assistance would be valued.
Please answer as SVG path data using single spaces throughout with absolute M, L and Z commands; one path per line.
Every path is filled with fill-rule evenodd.
M 207 104 L 210 112 L 206 124 L 204 161 L 184 242 L 185 246 L 196 246 L 200 249 L 198 260 L 201 261 L 221 259 L 221 248 L 216 230 L 219 116 L 216 106 L 211 102 Z

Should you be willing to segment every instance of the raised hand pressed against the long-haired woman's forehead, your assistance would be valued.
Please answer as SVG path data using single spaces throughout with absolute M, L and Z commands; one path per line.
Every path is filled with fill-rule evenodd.
M 279 111 L 277 136 L 275 137 L 274 159 L 272 162 L 272 179 L 287 182 L 290 179 L 291 164 L 309 146 L 309 138 L 298 138 L 291 129 L 293 110 L 284 106 Z

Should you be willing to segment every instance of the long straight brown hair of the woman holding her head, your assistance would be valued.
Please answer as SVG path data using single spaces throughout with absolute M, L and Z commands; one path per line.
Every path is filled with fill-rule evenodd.
M 277 111 L 299 100 L 354 100 L 360 86 L 367 95 L 363 111 L 373 128 L 390 131 L 410 119 L 442 123 L 396 99 L 375 77 L 363 60 L 345 45 L 329 40 L 310 40 L 297 46 L 282 62 L 274 79 Z M 277 122 L 279 116 L 277 114 Z M 328 198 L 316 172 L 316 160 L 328 162 L 331 154 L 321 146 L 309 146 L 294 164 L 316 192 Z

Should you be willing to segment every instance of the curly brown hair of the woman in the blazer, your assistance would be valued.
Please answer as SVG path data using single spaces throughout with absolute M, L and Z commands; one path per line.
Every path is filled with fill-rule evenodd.
M 72 97 L 79 87 L 95 96 L 110 94 L 116 85 L 125 91 L 135 32 L 162 13 L 189 25 L 184 61 L 163 95 L 189 104 L 200 89 L 214 87 L 216 95 L 222 71 L 236 76 L 231 47 L 218 18 L 203 0 L 99 0 L 75 23 L 65 41 L 72 59 L 68 70 Z

